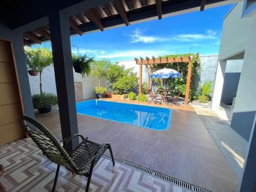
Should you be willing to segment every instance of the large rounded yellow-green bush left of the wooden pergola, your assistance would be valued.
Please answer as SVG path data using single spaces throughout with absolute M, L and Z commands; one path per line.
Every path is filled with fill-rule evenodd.
M 126 94 L 138 87 L 138 77 L 132 73 L 129 76 L 123 76 L 113 84 L 114 94 Z

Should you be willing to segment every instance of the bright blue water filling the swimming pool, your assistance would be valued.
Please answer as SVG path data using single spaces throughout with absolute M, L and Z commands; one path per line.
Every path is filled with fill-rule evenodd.
M 166 108 L 101 100 L 76 103 L 76 112 L 159 131 L 169 129 L 172 116 L 172 110 Z

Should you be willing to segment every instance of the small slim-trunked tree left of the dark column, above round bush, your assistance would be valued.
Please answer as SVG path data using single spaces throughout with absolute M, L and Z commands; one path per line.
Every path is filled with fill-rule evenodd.
M 41 73 L 46 67 L 52 65 L 52 52 L 49 48 L 25 49 L 25 56 L 28 69 L 39 72 L 40 94 L 42 94 Z

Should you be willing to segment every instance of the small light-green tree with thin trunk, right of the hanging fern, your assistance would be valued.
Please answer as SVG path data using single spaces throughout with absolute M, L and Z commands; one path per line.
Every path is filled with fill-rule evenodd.
M 105 77 L 106 75 L 106 66 L 108 66 L 110 61 L 108 60 L 95 60 L 93 62 L 92 68 L 91 68 L 91 74 L 94 77 L 99 78 L 99 87 L 100 87 L 100 78 Z

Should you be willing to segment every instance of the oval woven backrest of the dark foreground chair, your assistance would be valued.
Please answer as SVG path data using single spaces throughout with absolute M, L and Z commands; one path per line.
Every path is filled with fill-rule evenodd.
M 40 148 L 42 154 L 44 154 L 50 161 L 63 165 L 73 172 L 78 170 L 57 138 L 44 125 L 28 116 L 21 117 L 19 122 L 22 124 L 25 132 Z M 36 131 L 30 124 L 35 126 L 39 131 Z

